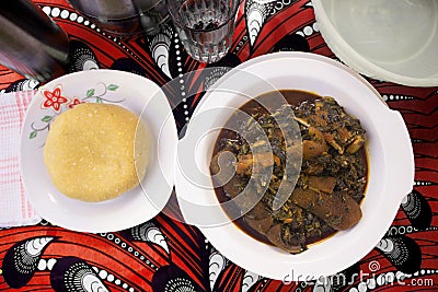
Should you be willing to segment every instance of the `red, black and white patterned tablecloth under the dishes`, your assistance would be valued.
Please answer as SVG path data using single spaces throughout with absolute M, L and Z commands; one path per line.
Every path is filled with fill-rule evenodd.
M 153 37 L 119 39 L 105 35 L 62 0 L 35 2 L 69 34 L 70 71 L 125 70 L 162 85 L 209 67 L 187 56 L 170 25 Z M 335 58 L 309 0 L 243 2 L 231 51 L 219 65 L 234 67 L 279 50 Z M 2 91 L 38 86 L 8 69 L 0 68 L 0 73 Z M 438 291 L 438 87 L 370 82 L 405 119 L 415 152 L 415 186 L 376 248 L 332 281 L 283 283 L 258 277 L 223 257 L 196 227 L 161 213 L 114 233 L 78 233 L 44 220 L 2 229 L 0 291 L 91 291 L 80 288 L 82 283 L 93 291 Z M 203 84 L 193 74 L 178 94 Z M 191 96 L 176 107 L 180 128 L 200 98 Z

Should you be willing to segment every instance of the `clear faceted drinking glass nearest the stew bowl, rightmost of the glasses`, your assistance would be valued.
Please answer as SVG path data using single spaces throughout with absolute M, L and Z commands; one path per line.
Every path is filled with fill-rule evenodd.
M 216 62 L 231 47 L 239 0 L 166 0 L 184 48 L 194 59 Z

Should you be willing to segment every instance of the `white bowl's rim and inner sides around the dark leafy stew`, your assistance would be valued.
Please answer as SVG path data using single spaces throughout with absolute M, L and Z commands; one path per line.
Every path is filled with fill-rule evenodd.
M 192 171 L 188 172 L 180 155 L 175 176 L 176 194 L 186 220 L 199 225 L 211 244 L 231 261 L 273 279 L 318 279 L 360 260 L 388 231 L 402 199 L 413 187 L 412 144 L 400 113 L 391 110 L 379 93 L 359 74 L 322 56 L 277 52 L 242 63 L 210 89 L 197 106 L 185 138 L 180 141 L 178 154 L 195 145 L 194 160 L 199 173 L 208 174 L 211 149 L 218 135 L 218 131 L 210 130 L 223 127 L 229 117 L 229 114 L 218 108 L 239 108 L 249 97 L 273 89 L 306 90 L 323 96 L 334 96 L 349 114 L 360 119 L 367 130 L 366 149 L 369 157 L 369 180 L 361 203 L 360 222 L 348 231 L 337 232 L 310 246 L 299 255 L 290 255 L 252 238 L 232 223 L 224 224 L 228 217 L 218 206 L 211 179 L 198 184 L 199 175 L 191 177 L 193 167 L 188 167 Z M 244 93 L 244 98 L 237 92 Z M 208 118 L 204 122 L 196 121 L 203 114 Z

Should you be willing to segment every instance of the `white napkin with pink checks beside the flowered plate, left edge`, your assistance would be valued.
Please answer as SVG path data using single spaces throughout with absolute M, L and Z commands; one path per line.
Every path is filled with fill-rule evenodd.
M 0 227 L 36 224 L 21 178 L 20 132 L 34 91 L 0 93 Z

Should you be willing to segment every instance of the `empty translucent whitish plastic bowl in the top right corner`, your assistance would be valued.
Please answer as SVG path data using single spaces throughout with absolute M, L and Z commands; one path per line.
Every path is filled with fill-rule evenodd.
M 438 1 L 312 0 L 333 52 L 365 75 L 438 86 Z

